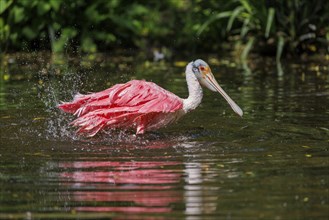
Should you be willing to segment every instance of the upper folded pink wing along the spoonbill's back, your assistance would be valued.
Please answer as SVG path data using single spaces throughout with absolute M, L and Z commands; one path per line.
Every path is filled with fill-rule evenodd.
M 58 106 L 65 112 L 82 116 L 95 110 L 113 112 L 175 112 L 183 108 L 182 99 L 152 82 L 132 80 L 88 95 L 75 95 L 72 102 Z

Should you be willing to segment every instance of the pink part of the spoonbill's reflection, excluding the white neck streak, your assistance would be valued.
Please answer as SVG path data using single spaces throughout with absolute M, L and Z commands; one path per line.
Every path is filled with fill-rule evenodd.
M 155 149 L 165 147 L 163 143 L 152 142 L 145 149 L 155 146 L 158 146 Z M 133 154 L 131 146 L 127 147 Z M 124 154 L 127 152 L 113 156 L 112 161 L 88 161 L 84 156 L 59 164 L 61 182 L 69 188 L 67 198 L 83 204 L 74 207 L 75 210 L 168 213 L 172 204 L 183 201 L 183 191 L 177 190 L 183 162 L 161 156 L 147 159 Z

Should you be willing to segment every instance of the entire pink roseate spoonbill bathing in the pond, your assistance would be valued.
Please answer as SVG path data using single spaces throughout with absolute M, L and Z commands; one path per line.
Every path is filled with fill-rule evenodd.
M 143 134 L 165 127 L 201 103 L 201 85 L 219 92 L 238 115 L 243 115 L 241 108 L 218 85 L 205 61 L 190 62 L 185 74 L 189 91 L 187 99 L 155 83 L 132 80 L 101 92 L 77 94 L 72 102 L 63 102 L 58 107 L 76 115 L 77 119 L 71 124 L 79 127 L 77 133 L 90 137 L 109 128 L 135 129 L 136 134 Z

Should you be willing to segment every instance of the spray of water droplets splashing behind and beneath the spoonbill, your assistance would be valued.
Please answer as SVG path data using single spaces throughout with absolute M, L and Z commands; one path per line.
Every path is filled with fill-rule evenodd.
M 45 129 L 42 135 L 47 139 L 61 139 L 61 140 L 79 140 L 88 142 L 134 142 L 145 144 L 145 140 L 161 140 L 172 139 L 175 135 L 169 134 L 170 137 L 163 137 L 160 133 L 153 133 L 144 135 L 143 137 L 134 135 L 131 131 L 106 131 L 94 138 L 87 138 L 79 136 L 75 133 L 76 128 L 72 127 L 70 123 L 74 120 L 74 116 L 63 113 L 57 108 L 61 101 L 70 101 L 73 96 L 90 88 L 97 90 L 97 86 L 101 80 L 104 82 L 104 76 L 97 75 L 97 69 L 86 69 L 82 66 L 69 66 L 67 62 L 63 61 L 61 64 L 51 64 L 38 73 L 38 96 L 44 104 L 46 113 Z M 80 69 L 81 68 L 81 69 Z M 92 77 L 91 77 L 92 76 Z M 98 77 L 97 77 L 98 76 Z M 111 82 L 120 81 L 116 78 L 119 75 L 111 76 Z M 108 77 L 108 76 L 106 76 Z M 84 82 L 88 81 L 84 85 Z M 107 84 L 106 84 L 107 85 Z M 100 89 L 103 89 L 103 86 Z M 199 132 L 197 132 L 199 133 Z M 178 135 L 179 136 L 179 135 Z M 184 138 L 186 136 L 183 135 Z M 188 135 L 190 136 L 190 135 Z

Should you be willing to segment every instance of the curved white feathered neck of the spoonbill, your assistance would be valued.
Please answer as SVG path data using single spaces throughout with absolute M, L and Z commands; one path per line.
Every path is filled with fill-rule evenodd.
M 183 100 L 183 110 L 185 113 L 194 110 L 201 103 L 203 92 L 201 85 L 192 72 L 192 64 L 186 67 L 186 82 L 188 87 L 189 96 Z

